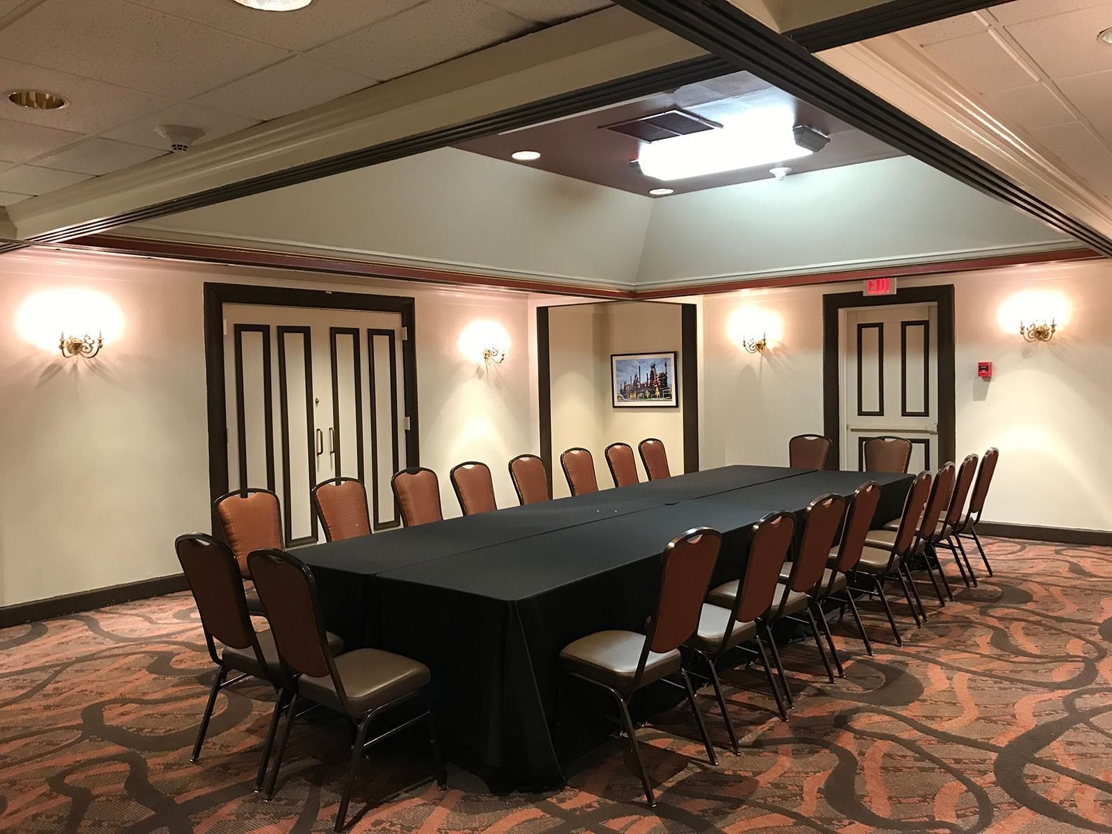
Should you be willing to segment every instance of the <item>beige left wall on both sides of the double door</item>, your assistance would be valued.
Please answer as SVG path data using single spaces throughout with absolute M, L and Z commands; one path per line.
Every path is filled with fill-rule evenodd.
M 516 504 L 505 461 L 537 450 L 522 294 L 53 252 L 4 256 L 0 278 L 0 605 L 177 573 L 173 537 L 209 527 L 205 281 L 414 296 L 421 463 L 447 515 L 454 464 L 488 460 L 498 502 Z M 58 354 L 59 301 L 73 299 L 76 318 L 108 328 L 91 361 Z M 463 355 L 475 322 L 508 338 L 505 363 Z

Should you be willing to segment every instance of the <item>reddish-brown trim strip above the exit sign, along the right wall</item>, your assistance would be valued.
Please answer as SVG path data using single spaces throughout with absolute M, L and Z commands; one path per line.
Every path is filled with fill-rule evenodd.
M 1031 266 L 1034 264 L 1058 264 L 1072 260 L 1095 260 L 1102 256 L 1092 249 L 1054 249 L 1041 252 L 1016 255 L 994 255 L 987 258 L 964 258 L 931 264 L 907 264 L 904 266 L 878 267 L 876 269 L 846 269 L 833 272 L 807 272 L 805 275 L 781 276 L 776 278 L 754 278 L 749 280 L 721 281 L 718 284 L 696 284 L 687 287 L 638 290 L 637 300 L 653 298 L 682 298 L 684 296 L 708 296 L 717 292 L 733 292 L 738 289 L 762 289 L 768 287 L 804 287 L 817 284 L 844 284 L 865 281 L 870 278 L 914 278 L 921 275 L 950 275 L 952 272 L 975 272 L 983 269 Z

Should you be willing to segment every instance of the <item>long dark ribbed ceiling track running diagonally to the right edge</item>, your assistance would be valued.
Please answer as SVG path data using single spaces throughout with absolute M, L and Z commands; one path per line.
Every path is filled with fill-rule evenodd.
M 616 0 L 619 6 L 747 70 L 979 191 L 1112 256 L 1112 239 L 1012 182 L 727 0 Z

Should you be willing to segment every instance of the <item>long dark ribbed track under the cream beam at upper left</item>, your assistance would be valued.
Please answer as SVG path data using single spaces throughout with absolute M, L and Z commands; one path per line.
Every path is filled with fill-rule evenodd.
M 683 85 L 696 81 L 705 81 L 731 71 L 733 71 L 731 64 L 719 58 L 713 56 L 694 58 L 635 76 L 627 76 L 626 78 L 615 79 L 606 83 L 587 87 L 582 90 L 553 96 L 529 105 L 502 110 L 461 125 L 438 128 L 437 130 L 375 145 L 363 150 L 340 153 L 327 159 L 318 159 L 294 168 L 287 168 L 282 171 L 252 177 L 227 186 L 210 188 L 185 197 L 158 202 L 152 206 L 132 209 L 112 217 L 78 224 L 37 236 L 31 238 L 31 240 L 41 244 L 52 244 L 95 235 L 126 224 L 141 222 L 143 220 L 166 217 L 167 215 L 176 215 L 179 211 L 203 208 L 205 206 L 212 206 L 240 197 L 249 197 L 276 188 L 285 188 L 286 186 L 295 186 L 321 177 L 329 177 L 334 173 L 344 173 L 357 168 L 378 165 L 379 162 L 411 157 L 416 153 L 445 148 L 489 133 L 515 130 L 550 119 L 574 116 L 585 110 L 617 105 L 622 101 L 648 96 L 661 90 L 682 87 Z

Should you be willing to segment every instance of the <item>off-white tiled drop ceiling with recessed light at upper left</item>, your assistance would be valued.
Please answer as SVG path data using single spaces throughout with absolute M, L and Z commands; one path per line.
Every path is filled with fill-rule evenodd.
M 211 141 L 609 6 L 608 0 L 0 0 L 0 206 Z M 69 99 L 28 110 L 7 92 Z

